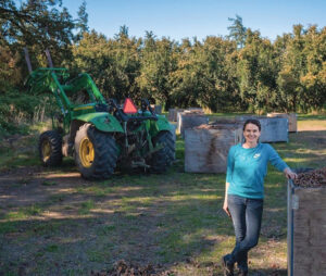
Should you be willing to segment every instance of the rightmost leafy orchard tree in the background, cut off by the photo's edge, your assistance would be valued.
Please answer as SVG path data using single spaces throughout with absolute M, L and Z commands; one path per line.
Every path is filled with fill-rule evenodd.
M 289 111 L 323 109 L 326 95 L 326 28 L 293 26 L 278 75 L 283 105 Z

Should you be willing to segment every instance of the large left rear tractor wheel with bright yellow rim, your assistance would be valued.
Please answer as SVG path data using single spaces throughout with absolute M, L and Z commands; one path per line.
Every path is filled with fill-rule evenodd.
M 114 173 L 117 161 L 115 139 L 93 125 L 79 127 L 75 138 L 75 162 L 86 179 L 105 179 Z

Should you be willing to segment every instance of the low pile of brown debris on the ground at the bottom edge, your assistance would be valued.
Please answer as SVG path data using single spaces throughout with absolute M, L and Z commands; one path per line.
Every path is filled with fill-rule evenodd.
M 168 276 L 174 275 L 172 271 L 164 271 L 162 265 L 145 265 L 127 263 L 124 260 L 116 262 L 113 268 L 102 272 L 91 272 L 91 276 Z

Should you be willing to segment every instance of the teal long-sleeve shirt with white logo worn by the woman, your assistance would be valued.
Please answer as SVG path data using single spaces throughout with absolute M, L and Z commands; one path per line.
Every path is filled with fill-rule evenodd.
M 251 199 L 264 198 L 268 162 L 280 172 L 288 167 L 268 143 L 258 143 L 250 149 L 242 148 L 241 143 L 233 146 L 227 156 L 227 193 Z

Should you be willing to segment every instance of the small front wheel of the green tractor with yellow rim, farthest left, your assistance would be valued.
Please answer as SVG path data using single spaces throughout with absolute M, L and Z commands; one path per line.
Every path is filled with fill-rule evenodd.
M 55 130 L 40 135 L 38 152 L 43 166 L 58 166 L 62 162 L 62 137 Z

